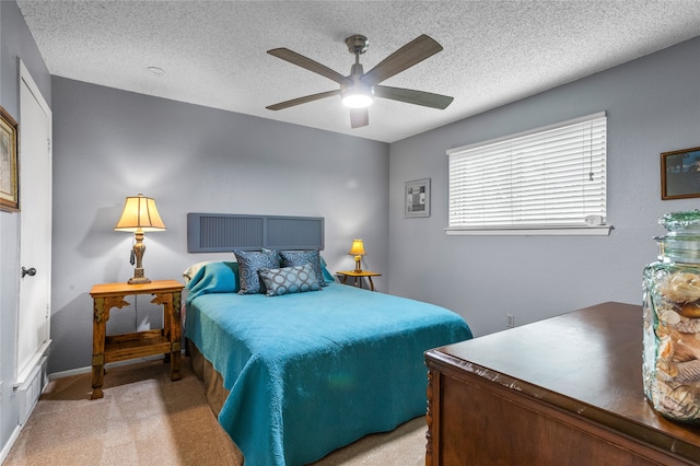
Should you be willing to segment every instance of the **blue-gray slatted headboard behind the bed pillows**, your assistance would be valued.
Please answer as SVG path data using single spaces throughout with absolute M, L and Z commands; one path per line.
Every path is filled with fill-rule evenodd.
M 323 217 L 187 214 L 187 252 L 323 249 Z

